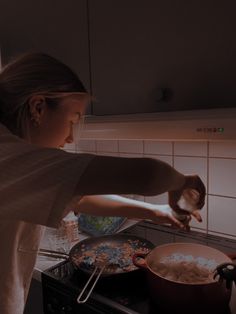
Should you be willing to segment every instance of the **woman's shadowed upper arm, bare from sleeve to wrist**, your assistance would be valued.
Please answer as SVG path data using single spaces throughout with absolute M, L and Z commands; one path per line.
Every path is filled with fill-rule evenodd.
M 185 176 L 160 160 L 96 156 L 81 176 L 76 194 L 156 195 L 184 184 Z

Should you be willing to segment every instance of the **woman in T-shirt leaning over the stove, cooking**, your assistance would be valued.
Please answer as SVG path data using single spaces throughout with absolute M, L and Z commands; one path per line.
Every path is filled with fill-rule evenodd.
M 164 162 L 60 150 L 89 100 L 75 73 L 45 54 L 23 55 L 0 73 L 1 314 L 23 313 L 43 226 L 58 227 L 71 209 L 186 228 L 171 213 L 186 213 L 177 204 L 183 190 L 196 189 L 197 208 L 204 205 L 200 178 Z M 167 191 L 170 206 L 108 195 Z

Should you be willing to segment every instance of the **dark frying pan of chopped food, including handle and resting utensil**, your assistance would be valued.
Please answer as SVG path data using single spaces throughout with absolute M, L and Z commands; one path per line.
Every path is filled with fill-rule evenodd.
M 126 248 L 128 247 L 128 250 Z M 98 279 L 113 275 L 122 275 L 138 271 L 139 267 L 133 264 L 135 253 L 149 253 L 154 244 L 150 241 L 129 234 L 112 234 L 87 238 L 75 244 L 69 254 L 41 249 L 39 254 L 54 257 L 69 258 L 75 269 L 90 275 L 87 283 L 77 298 L 78 303 L 85 303 L 92 293 Z M 51 252 L 51 253 L 50 253 Z M 129 252 L 129 254 L 125 254 Z M 53 255 L 52 255 L 53 254 Z M 104 262 L 99 255 L 104 254 Z M 99 260 L 99 262 L 97 262 Z M 92 285 L 85 298 L 82 296 Z

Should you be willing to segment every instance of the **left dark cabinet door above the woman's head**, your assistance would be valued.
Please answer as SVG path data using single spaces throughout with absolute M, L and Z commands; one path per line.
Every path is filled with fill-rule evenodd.
M 3 62 L 29 50 L 64 61 L 90 90 L 87 0 L 2 0 Z

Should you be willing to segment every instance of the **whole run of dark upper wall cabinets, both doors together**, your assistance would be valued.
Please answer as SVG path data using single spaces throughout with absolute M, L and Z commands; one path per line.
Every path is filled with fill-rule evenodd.
M 3 58 L 66 62 L 116 115 L 236 106 L 234 0 L 2 0 Z M 14 10 L 13 10 L 14 8 Z

